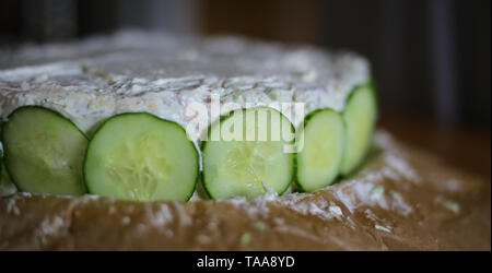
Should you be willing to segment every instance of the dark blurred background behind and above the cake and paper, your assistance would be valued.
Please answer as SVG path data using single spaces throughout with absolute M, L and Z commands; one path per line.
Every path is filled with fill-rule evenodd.
M 137 27 L 343 48 L 373 63 L 380 126 L 490 178 L 490 0 L 0 0 L 0 45 Z

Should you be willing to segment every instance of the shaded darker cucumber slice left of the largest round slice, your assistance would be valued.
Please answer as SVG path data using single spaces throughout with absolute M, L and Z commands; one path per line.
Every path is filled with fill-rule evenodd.
M 69 119 L 39 106 L 15 109 L 2 130 L 5 167 L 27 192 L 85 193 L 82 162 L 87 139 Z

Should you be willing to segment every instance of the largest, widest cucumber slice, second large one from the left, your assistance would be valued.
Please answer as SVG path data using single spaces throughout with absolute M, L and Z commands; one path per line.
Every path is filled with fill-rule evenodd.
M 148 112 L 107 119 L 84 162 L 90 193 L 127 200 L 187 201 L 198 174 L 198 152 L 185 130 Z

